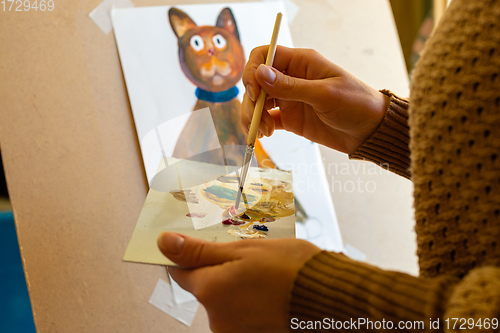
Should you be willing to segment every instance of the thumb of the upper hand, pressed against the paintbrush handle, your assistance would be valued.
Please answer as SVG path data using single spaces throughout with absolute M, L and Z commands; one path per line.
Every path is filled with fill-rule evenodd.
M 270 66 L 260 65 L 255 78 L 262 89 L 274 98 L 309 103 L 317 94 L 316 81 L 288 76 Z

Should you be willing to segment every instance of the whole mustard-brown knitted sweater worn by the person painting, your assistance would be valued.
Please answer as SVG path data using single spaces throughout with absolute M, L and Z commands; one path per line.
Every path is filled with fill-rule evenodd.
M 499 76 L 500 0 L 452 1 L 414 72 L 410 102 L 382 91 L 391 98 L 385 118 L 350 156 L 413 181 L 420 276 L 323 251 L 296 277 L 292 331 L 324 318 L 394 328 L 422 321 L 432 332 L 454 331 L 452 318 L 457 331 L 461 318 L 500 320 Z

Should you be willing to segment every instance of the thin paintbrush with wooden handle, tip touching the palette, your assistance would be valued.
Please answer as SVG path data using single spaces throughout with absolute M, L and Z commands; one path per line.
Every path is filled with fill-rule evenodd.
M 278 13 L 276 15 L 276 23 L 274 24 L 273 36 L 271 37 L 271 44 L 269 44 L 269 49 L 267 51 L 266 65 L 272 66 L 274 62 L 274 55 L 276 54 L 276 46 L 278 45 L 278 34 L 281 27 L 281 19 L 283 14 Z M 257 133 L 259 132 L 260 119 L 262 118 L 262 110 L 264 109 L 264 103 L 266 102 L 267 94 L 264 89 L 260 89 L 259 97 L 257 98 L 257 103 L 255 103 L 255 109 L 253 111 L 252 122 L 250 123 L 250 129 L 248 130 L 247 136 L 247 148 L 245 150 L 245 157 L 243 159 L 243 165 L 241 167 L 240 179 L 239 179 L 239 190 L 236 196 L 236 204 L 234 207 L 238 209 L 240 205 L 241 196 L 243 194 L 243 186 L 245 185 L 245 180 L 248 174 L 248 168 L 250 167 L 250 162 L 252 161 L 253 151 L 255 147 L 255 140 L 257 139 Z

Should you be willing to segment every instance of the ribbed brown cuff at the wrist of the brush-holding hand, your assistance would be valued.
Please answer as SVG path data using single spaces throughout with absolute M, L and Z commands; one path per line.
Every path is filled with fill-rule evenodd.
M 409 179 L 409 104 L 407 100 L 394 95 L 389 90 L 381 90 L 380 92 L 390 97 L 385 117 L 379 128 L 361 147 L 349 155 L 349 158 L 374 162 Z

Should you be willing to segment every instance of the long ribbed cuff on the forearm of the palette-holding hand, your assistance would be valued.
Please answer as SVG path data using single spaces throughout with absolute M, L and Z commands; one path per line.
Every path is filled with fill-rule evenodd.
M 289 312 L 291 332 L 331 331 L 318 327 L 314 330 L 294 329 L 297 327 L 294 322 L 324 321 L 324 318 L 342 322 L 357 321 L 358 318 L 372 322 L 385 320 L 391 321 L 396 329 L 400 321 L 418 321 L 429 330 L 430 318 L 442 322 L 444 305 L 454 281 L 384 271 L 343 254 L 323 251 L 302 267 L 294 282 Z M 374 330 L 384 331 L 366 325 L 343 329 L 349 332 Z

